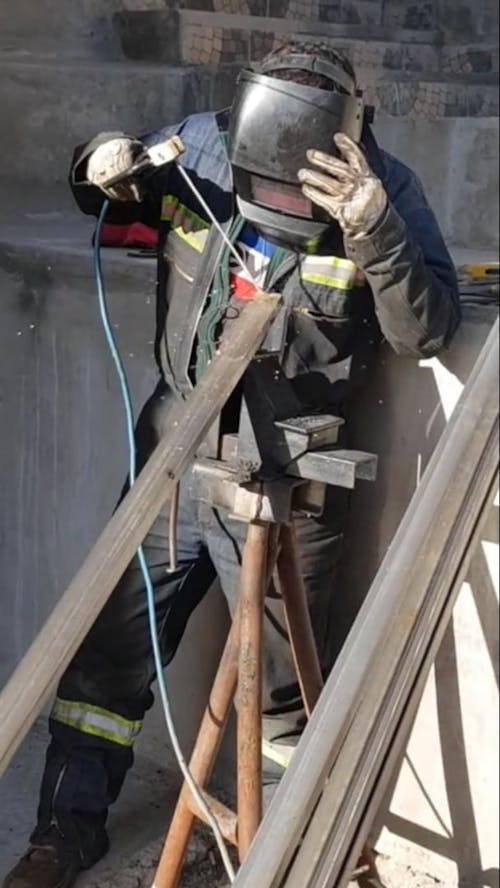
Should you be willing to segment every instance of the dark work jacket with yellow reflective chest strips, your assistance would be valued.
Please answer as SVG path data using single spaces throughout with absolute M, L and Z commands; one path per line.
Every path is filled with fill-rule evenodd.
M 236 209 L 227 122 L 227 112 L 195 114 L 141 138 L 152 145 L 180 136 L 186 148 L 180 162 L 229 232 Z M 103 133 L 75 153 L 71 182 L 86 213 L 97 215 L 103 201 L 86 183 L 86 161 L 119 135 Z M 389 197 L 375 230 L 356 240 L 332 225 L 329 255 L 287 253 L 268 281 L 290 312 L 282 366 L 304 412 L 339 412 L 346 396 L 339 367 L 351 359 L 369 367 L 382 338 L 399 354 L 429 357 L 450 342 L 460 319 L 454 267 L 418 179 L 378 148 L 368 127 L 363 145 Z M 198 325 L 224 253 L 220 232 L 175 164 L 148 181 L 141 204 L 113 203 L 108 221 L 159 229 L 156 359 L 168 386 L 184 397 L 193 385 Z M 224 337 L 236 314 L 225 312 Z

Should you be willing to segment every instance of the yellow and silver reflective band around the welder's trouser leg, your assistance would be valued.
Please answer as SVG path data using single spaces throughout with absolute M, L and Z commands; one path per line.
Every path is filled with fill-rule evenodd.
M 121 715 L 73 700 L 57 697 L 50 717 L 60 725 L 67 725 L 82 734 L 101 737 L 118 746 L 133 746 L 142 728 L 142 721 L 128 721 Z

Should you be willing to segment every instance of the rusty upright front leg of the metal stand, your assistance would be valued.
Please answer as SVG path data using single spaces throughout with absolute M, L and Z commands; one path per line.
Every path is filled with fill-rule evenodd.
M 238 669 L 238 851 L 243 860 L 262 818 L 262 620 L 269 525 L 252 523 L 243 549 Z

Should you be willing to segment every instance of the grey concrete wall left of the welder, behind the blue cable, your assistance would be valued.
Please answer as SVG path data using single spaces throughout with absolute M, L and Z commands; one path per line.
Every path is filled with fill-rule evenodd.
M 68 249 L 72 234 L 63 226 L 34 249 L 0 247 L 0 686 L 104 527 L 126 475 L 123 414 L 90 254 Z M 110 310 L 139 409 L 156 379 L 155 263 L 110 260 L 107 267 Z M 169 670 L 186 746 L 226 620 L 221 598 L 210 596 Z M 140 749 L 167 765 L 164 738 L 161 718 L 153 718 Z

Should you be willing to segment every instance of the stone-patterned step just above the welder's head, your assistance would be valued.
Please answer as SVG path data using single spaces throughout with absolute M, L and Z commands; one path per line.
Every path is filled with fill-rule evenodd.
M 200 9 L 124 11 L 114 16 L 126 58 L 168 64 L 247 63 L 287 37 L 318 37 L 343 49 L 357 69 L 377 74 L 430 72 L 494 74 L 498 45 L 444 47 L 437 31 L 380 25 L 329 24 Z

